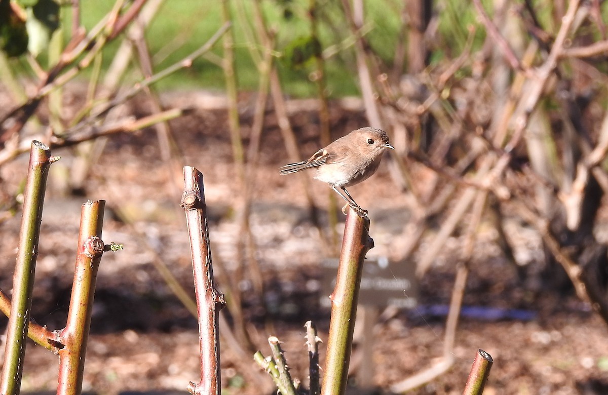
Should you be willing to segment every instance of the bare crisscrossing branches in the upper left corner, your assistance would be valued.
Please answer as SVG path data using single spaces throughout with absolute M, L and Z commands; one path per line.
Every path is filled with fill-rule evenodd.
M 193 61 L 209 52 L 229 30 L 230 24 L 221 26 L 215 35 L 187 57 L 154 73 L 150 50 L 147 42 L 143 40 L 143 32 L 161 4 L 162 0 L 137 0 L 126 5 L 124 1 L 117 0 L 111 11 L 96 26 L 86 31 L 80 26 L 79 3 L 74 2 L 72 16 L 75 19 L 72 21 L 71 41 L 59 49 L 49 48 L 49 52 L 58 53 L 57 61 L 52 66 L 44 69 L 36 58 L 28 55 L 29 64 L 36 77 L 27 81 L 27 84 L 10 84 L 14 81 L 11 78 L 13 75 L 10 68 L 4 70 L 2 80 L 12 87 L 13 96 L 22 98 L 22 102 L 0 119 L 0 165 L 26 152 L 33 140 L 40 140 L 51 147 L 60 147 L 95 140 L 117 132 L 133 132 L 145 128 L 156 128 L 162 159 L 169 161 L 176 154 L 179 155 L 167 122 L 184 115 L 188 109 L 162 108 L 153 84 L 180 69 L 190 67 Z M 19 5 L 14 4 L 13 7 L 18 9 Z M 19 12 L 24 13 L 23 10 Z M 133 23 L 134 21 L 136 23 Z M 66 29 L 66 26 L 60 28 Z M 115 40 L 120 41 L 122 46 L 111 66 L 102 70 L 103 50 Z M 127 66 L 134 61 L 134 54 L 139 57 L 135 64 L 140 67 L 143 78 L 130 88 L 122 88 L 120 81 L 128 70 Z M 0 53 L 0 58 L 4 66 L 9 67 L 5 55 Z M 86 100 L 75 111 L 63 111 L 61 94 L 64 87 L 86 69 L 92 69 Z M 35 91 L 27 97 L 24 94 L 26 85 L 36 86 Z M 151 103 L 151 114 L 136 119 L 116 111 L 142 92 Z M 49 119 L 46 126 L 41 126 L 36 114 L 46 103 L 46 98 L 50 110 Z M 88 149 L 91 149 L 90 146 Z

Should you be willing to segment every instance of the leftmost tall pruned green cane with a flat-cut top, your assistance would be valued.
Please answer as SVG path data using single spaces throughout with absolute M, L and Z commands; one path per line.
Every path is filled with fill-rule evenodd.
M 50 156 L 50 148 L 41 142 L 32 142 L 19 233 L 19 252 L 13 275 L 13 303 L 10 308 L 0 381 L 0 393 L 3 395 L 18 394 L 21 386 L 44 192 L 51 162 L 53 159 Z

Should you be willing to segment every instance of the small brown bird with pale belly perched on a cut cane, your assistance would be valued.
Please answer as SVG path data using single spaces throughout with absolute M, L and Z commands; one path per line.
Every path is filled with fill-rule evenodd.
M 283 166 L 279 172 L 291 174 L 310 167 L 316 168 L 315 179 L 329 184 L 350 207 L 365 216 L 367 210 L 359 207 L 346 187 L 359 184 L 376 173 L 385 148 L 395 149 L 389 144 L 389 136 L 385 131 L 361 128 L 319 149 L 308 160 Z M 344 191 L 344 194 L 337 188 Z

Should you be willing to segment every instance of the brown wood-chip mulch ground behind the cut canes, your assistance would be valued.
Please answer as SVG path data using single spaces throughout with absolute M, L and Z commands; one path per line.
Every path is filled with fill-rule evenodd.
M 176 105 L 198 105 L 195 94 L 170 100 Z M 201 99 L 202 100 L 202 99 Z M 241 109 L 245 125 L 250 108 Z M 136 108 L 135 111 L 143 111 Z M 331 110 L 334 137 L 365 125 L 361 111 Z M 294 129 L 302 142 L 303 157 L 319 148 L 314 112 L 294 111 Z M 288 351 L 292 375 L 306 382 L 307 354 L 303 346 L 306 320 L 316 321 L 326 338 L 328 311 L 320 309 L 318 263 L 324 257 L 319 232 L 305 210 L 305 196 L 297 178 L 278 175 L 288 160 L 272 114 L 269 114 L 261 163 L 255 174 L 251 219 L 261 266 L 264 299 L 255 296 L 252 283 L 244 289 L 244 314 L 255 347 L 268 354 L 266 338 L 277 335 Z M 83 389 L 103 394 L 140 391 L 184 391 L 198 382 L 196 321 L 171 294 L 154 267 L 156 255 L 182 286 L 192 290 L 192 269 L 183 213 L 181 165 L 198 168 L 205 176 L 210 210 L 210 238 L 218 272 L 235 270 L 238 237 L 233 204 L 239 187 L 232 166 L 232 151 L 224 112 L 199 109 L 171 123 L 184 163 L 171 167 L 159 159 L 154 132 L 111 137 L 83 185 L 82 196 L 66 195 L 66 174 L 74 167 L 77 149 L 58 149 L 62 157 L 52 166 L 45 202 L 40 255 L 36 268 L 33 317 L 58 329 L 63 326 L 72 281 L 80 205 L 87 199 L 105 199 L 104 241 L 120 242 L 125 250 L 108 253 L 97 282 L 92 334 L 86 358 Z M 248 126 L 244 127 L 247 136 Z M 1 190 L 14 193 L 27 171 L 21 156 L 0 168 Z M 359 204 L 370 208 L 371 236 L 376 248 L 371 257 L 389 253 L 392 232 L 407 221 L 404 197 L 393 186 L 386 165 L 373 178 L 350 189 Z M 325 185 L 311 183 L 319 207 L 326 207 Z M 126 216 L 134 225 L 125 224 Z M 542 261 L 536 235 L 520 224 L 510 224 L 521 263 L 533 267 Z M 18 240 L 19 215 L 0 223 L 0 287 L 10 290 Z M 461 393 L 477 349 L 489 352 L 494 366 L 486 394 L 602 394 L 608 393 L 607 327 L 572 290 L 545 289 L 536 277 L 520 280 L 494 242 L 492 230 L 480 235 L 475 247 L 465 297 L 466 306 L 524 309 L 532 320 L 480 317 L 461 318 L 454 367 L 415 394 Z M 444 315 L 426 314 L 424 306 L 447 304 L 458 258 L 458 237 L 450 239 L 432 271 L 420 284 L 420 308 L 385 312 L 374 331 L 374 382 L 381 391 L 437 363 L 444 348 Z M 530 270 L 530 273 L 534 273 Z M 390 314 L 389 314 L 390 313 Z M 5 321 L 2 321 L 5 325 Z M 242 360 L 230 345 L 222 344 L 222 379 L 227 394 L 270 393 L 271 383 Z M 54 391 L 57 357 L 29 343 L 23 391 Z M 353 384 L 356 382 L 353 380 Z

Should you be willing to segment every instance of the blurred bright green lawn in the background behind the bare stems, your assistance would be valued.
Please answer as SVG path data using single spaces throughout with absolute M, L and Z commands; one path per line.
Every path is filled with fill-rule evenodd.
M 247 36 L 247 26 L 252 25 L 251 1 L 258 0 L 231 0 L 233 13 L 232 31 L 235 36 L 235 58 L 238 85 L 241 91 L 255 91 L 258 88 L 258 70 L 250 55 L 250 47 L 254 46 Z M 81 0 L 81 21 L 87 29 L 103 18 L 112 9 L 115 0 Z M 264 15 L 268 26 L 276 33 L 277 53 L 289 46 L 292 41 L 310 34 L 311 26 L 308 19 L 310 0 L 262 0 Z M 489 0 L 484 0 L 488 3 Z M 69 2 L 67 2 L 69 4 Z M 290 15 L 285 12 L 288 5 Z M 336 44 L 344 43 L 350 37 L 348 27 L 343 15 L 340 1 L 316 0 L 318 7 L 319 40 L 322 49 Z M 486 4 L 487 5 L 487 4 Z M 438 5 L 437 7 L 439 7 Z M 238 17 L 237 7 L 244 7 L 245 20 Z M 365 21 L 368 33 L 368 43 L 384 65 L 393 63 L 395 47 L 401 27 L 401 0 L 365 0 Z M 430 43 L 434 51 L 432 60 L 435 63 L 449 61 L 460 54 L 465 46 L 468 34 L 467 26 L 478 23 L 475 21 L 475 12 L 469 2 L 451 0 L 442 2 L 440 10 L 440 26 L 438 40 Z M 491 8 L 490 5 L 488 5 Z M 71 10 L 69 6 L 63 9 L 64 22 L 69 30 Z M 168 0 L 161 6 L 153 22 L 146 30 L 146 38 L 153 57 L 154 71 L 158 72 L 173 64 L 193 50 L 206 43 L 222 24 L 221 1 L 219 0 Z M 478 29 L 475 36 L 475 46 L 483 41 L 483 29 Z M 120 41 L 120 36 L 109 44 L 103 52 L 103 67 L 108 67 L 114 57 Z M 67 43 L 68 38 L 66 38 Z M 215 58 L 222 54 L 222 43 L 219 42 L 212 50 Z M 40 59 L 46 64 L 44 56 Z M 277 58 L 278 70 L 283 81 L 285 92 L 296 97 L 309 97 L 316 95 L 316 85 L 309 80 L 313 70 L 311 66 L 294 68 L 289 62 Z M 326 86 L 331 97 L 359 94 L 357 72 L 354 68 L 354 52 L 347 47 L 331 57 L 325 63 Z M 407 67 L 407 65 L 406 65 Z M 125 84 L 133 83 L 141 76 L 137 67 L 131 67 L 130 80 Z M 388 71 L 388 70 L 387 70 Z M 84 77 L 90 75 L 85 70 Z M 163 89 L 217 89 L 224 90 L 224 75 L 218 64 L 210 58 L 199 58 L 192 67 L 179 70 L 175 74 L 157 83 L 157 88 Z

